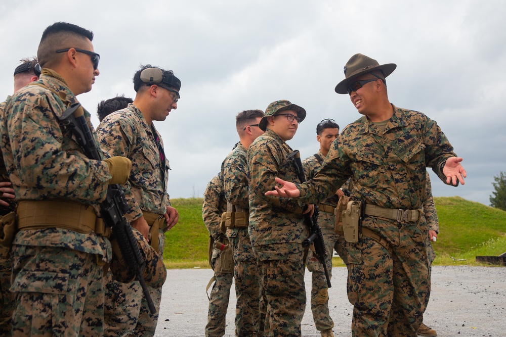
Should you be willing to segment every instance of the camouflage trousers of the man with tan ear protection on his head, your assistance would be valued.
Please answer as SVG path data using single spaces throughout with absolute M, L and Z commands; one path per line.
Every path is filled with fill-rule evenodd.
M 165 232 L 158 232 L 158 253 L 163 256 Z M 153 336 L 158 322 L 158 312 L 161 302 L 161 287 L 147 286 L 151 299 L 156 308 L 152 315 L 142 293 L 139 281 L 120 283 L 112 280 L 106 285 L 106 336 Z M 115 309 L 117 308 L 117 309 Z

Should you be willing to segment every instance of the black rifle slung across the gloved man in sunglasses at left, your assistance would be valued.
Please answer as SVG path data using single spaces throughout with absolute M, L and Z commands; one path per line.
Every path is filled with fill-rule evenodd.
M 102 160 L 99 152 L 101 150 L 97 147 L 93 139 L 84 111 L 79 103 L 70 105 L 60 118 L 60 122 L 63 126 L 70 128 L 88 158 Z M 107 196 L 105 200 L 100 203 L 100 214 L 105 224 L 111 227 L 112 234 L 116 238 L 119 250 L 123 255 L 126 268 L 129 269 L 131 274 L 135 274 L 139 280 L 142 292 L 148 303 L 149 311 L 154 315 L 156 314 L 156 308 L 149 295 L 146 282 L 142 277 L 146 262 L 139 250 L 137 239 L 132 231 L 132 226 L 126 222 L 126 219 L 123 217 L 127 209 L 128 203 L 126 202 L 125 194 L 121 186 L 119 184 L 110 184 L 107 187 Z

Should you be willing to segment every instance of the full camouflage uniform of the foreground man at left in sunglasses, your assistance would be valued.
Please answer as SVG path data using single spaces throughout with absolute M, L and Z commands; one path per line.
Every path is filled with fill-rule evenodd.
M 60 127 L 67 103 L 77 102 L 64 79 L 44 69 L 36 83 L 47 88 L 30 85 L 16 92 L 0 123 L 18 202 L 54 201 L 62 207 L 74 202 L 98 214 L 111 179 L 109 167 L 88 159 L 71 131 Z M 66 102 L 50 89 L 66 95 Z M 96 138 L 86 110 L 85 117 Z M 18 210 L 18 219 L 24 215 Z M 111 257 L 108 239 L 56 227 L 20 230 L 11 257 L 13 335 L 103 335 L 102 264 Z

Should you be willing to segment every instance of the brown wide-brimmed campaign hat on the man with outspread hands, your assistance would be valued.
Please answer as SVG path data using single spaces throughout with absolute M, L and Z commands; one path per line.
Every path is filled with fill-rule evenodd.
M 346 63 L 344 68 L 345 79 L 335 86 L 335 92 L 348 93 L 348 84 L 350 84 L 350 82 L 357 76 L 370 73 L 375 70 L 381 70 L 383 72 L 383 76 L 387 77 L 395 70 L 396 67 L 397 65 L 394 63 L 387 63 L 380 66 L 379 62 L 368 56 L 355 54 Z

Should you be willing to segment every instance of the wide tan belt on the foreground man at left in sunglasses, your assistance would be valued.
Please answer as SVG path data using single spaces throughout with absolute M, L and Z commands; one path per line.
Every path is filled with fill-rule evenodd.
M 64 228 L 108 237 L 111 229 L 91 206 L 66 200 L 23 200 L 17 208 L 18 230 Z

